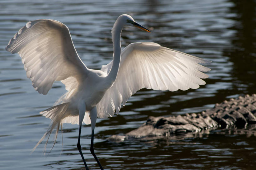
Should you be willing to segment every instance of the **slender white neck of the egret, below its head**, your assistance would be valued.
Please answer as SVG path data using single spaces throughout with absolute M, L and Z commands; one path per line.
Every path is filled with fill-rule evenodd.
M 113 28 L 112 28 L 112 41 L 113 41 L 113 63 L 110 72 L 108 73 L 108 80 L 110 80 L 112 83 L 116 80 L 117 73 L 119 70 L 120 60 L 121 60 L 121 32 L 123 27 L 118 24 L 118 22 L 115 22 Z

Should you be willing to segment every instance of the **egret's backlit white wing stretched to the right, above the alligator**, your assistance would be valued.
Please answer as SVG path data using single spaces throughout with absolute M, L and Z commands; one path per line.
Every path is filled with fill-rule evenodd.
M 119 113 L 121 103 L 126 103 L 141 88 L 154 90 L 196 89 L 205 84 L 202 73 L 210 69 L 198 63 L 210 61 L 162 47 L 153 42 L 131 43 L 122 50 L 117 78 L 102 100 L 97 104 L 98 117 L 113 116 Z M 109 73 L 112 62 L 102 66 Z

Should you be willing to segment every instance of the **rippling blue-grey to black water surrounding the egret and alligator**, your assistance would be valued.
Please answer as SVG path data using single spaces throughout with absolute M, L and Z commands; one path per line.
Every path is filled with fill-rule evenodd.
M 44 143 L 32 148 L 50 120 L 39 112 L 65 93 L 56 82 L 47 96 L 34 91 L 21 59 L 4 50 L 26 22 L 55 19 L 66 24 L 79 56 L 89 68 L 112 60 L 110 30 L 127 13 L 153 29 L 152 33 L 125 28 L 122 46 L 152 41 L 201 58 L 208 65 L 206 85 L 196 90 L 163 92 L 141 90 L 120 114 L 98 119 L 95 152 L 105 169 L 255 169 L 254 136 L 209 133 L 202 138 L 168 139 L 113 144 L 106 138 L 138 128 L 148 116 L 197 113 L 225 99 L 255 93 L 256 2 L 253 0 L 108 0 L 0 1 L 0 169 L 83 169 L 76 148 L 78 125 L 64 124 L 48 156 Z M 82 147 L 90 169 L 99 169 L 89 151 L 90 126 L 83 126 Z M 52 143 L 48 144 L 47 151 Z

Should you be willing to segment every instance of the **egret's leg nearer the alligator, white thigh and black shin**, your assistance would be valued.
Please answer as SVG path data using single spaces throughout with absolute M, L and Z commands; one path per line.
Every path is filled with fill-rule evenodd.
M 93 139 L 94 139 L 94 128 L 95 128 L 95 124 L 96 124 L 96 119 L 97 119 L 97 109 L 96 107 L 92 108 L 92 110 L 90 111 L 90 116 L 91 116 L 91 125 L 92 125 L 92 135 L 91 135 L 91 148 L 90 151 L 93 155 L 93 157 L 95 158 L 96 162 L 98 163 L 99 167 L 101 170 L 104 170 L 103 167 L 101 166 L 95 152 L 94 152 L 94 147 L 93 147 Z

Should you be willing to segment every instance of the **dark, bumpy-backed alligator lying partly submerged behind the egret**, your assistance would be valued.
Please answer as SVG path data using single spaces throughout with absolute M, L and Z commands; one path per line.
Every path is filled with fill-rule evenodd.
M 119 143 L 133 139 L 184 139 L 227 130 L 233 134 L 256 136 L 256 94 L 225 100 L 198 114 L 150 116 L 141 127 L 124 135 L 112 135 L 107 140 Z

